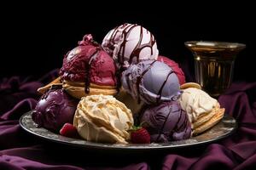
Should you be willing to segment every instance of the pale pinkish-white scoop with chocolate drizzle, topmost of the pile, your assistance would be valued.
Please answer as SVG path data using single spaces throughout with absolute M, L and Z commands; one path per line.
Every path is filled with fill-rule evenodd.
M 137 24 L 123 24 L 109 31 L 102 48 L 113 56 L 119 68 L 141 59 L 157 59 L 159 53 L 153 34 Z

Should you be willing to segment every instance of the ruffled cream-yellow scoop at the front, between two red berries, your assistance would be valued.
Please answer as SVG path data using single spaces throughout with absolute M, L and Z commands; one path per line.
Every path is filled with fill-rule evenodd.
M 73 125 L 88 141 L 125 144 L 133 117 L 131 110 L 113 96 L 90 95 L 80 100 Z

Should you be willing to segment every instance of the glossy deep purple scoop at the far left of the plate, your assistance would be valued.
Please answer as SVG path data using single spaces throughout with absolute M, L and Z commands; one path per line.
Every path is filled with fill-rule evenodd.
M 38 105 L 32 112 L 32 120 L 38 124 L 38 127 L 58 132 L 66 122 L 73 124 L 77 105 L 78 101 L 63 89 L 50 89 L 39 99 Z

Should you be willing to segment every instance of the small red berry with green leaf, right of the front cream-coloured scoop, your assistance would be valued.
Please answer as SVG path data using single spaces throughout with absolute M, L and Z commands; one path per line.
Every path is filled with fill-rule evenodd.
M 134 127 L 133 130 L 131 130 L 131 143 L 150 144 L 150 135 L 147 129 L 143 127 Z

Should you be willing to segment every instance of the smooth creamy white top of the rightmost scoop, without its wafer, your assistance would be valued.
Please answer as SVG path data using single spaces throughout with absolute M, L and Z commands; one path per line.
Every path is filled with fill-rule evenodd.
M 189 121 L 195 122 L 203 114 L 210 113 L 218 105 L 217 99 L 198 88 L 185 88 L 179 98 L 180 105 L 189 115 Z

